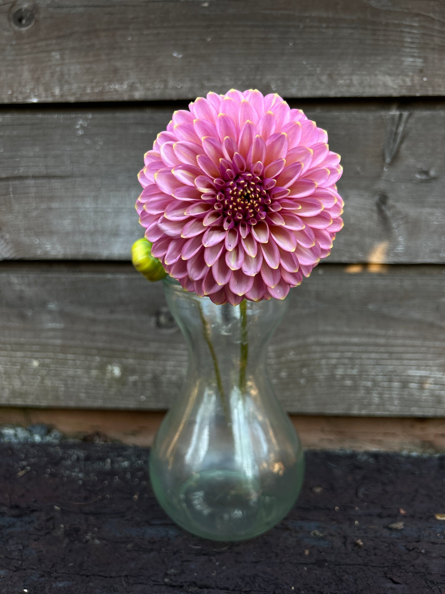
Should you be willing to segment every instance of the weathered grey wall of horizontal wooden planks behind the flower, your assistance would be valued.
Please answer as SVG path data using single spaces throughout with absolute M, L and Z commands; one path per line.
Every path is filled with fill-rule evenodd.
M 173 402 L 185 346 L 129 264 L 136 173 L 174 109 L 256 87 L 344 166 L 345 229 L 271 346 L 279 397 L 444 416 L 444 22 L 434 0 L 2 5 L 0 405 Z

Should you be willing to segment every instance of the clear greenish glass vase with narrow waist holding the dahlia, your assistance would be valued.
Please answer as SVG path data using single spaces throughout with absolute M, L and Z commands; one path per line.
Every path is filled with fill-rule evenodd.
M 300 440 L 266 374 L 287 299 L 234 307 L 187 293 L 170 277 L 164 287 L 189 369 L 152 446 L 155 495 L 195 535 L 252 538 L 288 513 L 303 481 Z

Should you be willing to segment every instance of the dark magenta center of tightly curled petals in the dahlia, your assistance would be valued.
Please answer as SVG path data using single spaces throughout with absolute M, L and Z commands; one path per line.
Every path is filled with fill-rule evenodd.
M 214 208 L 225 217 L 225 227 L 245 222 L 256 225 L 266 218 L 271 197 L 263 186 L 263 180 L 253 173 L 240 173 L 224 182 L 218 191 Z

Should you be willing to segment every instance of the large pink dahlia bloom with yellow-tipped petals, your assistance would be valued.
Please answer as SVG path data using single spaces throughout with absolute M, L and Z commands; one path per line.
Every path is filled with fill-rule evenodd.
M 209 93 L 158 134 L 139 222 L 171 277 L 216 304 L 284 299 L 343 226 L 340 157 L 277 94 Z

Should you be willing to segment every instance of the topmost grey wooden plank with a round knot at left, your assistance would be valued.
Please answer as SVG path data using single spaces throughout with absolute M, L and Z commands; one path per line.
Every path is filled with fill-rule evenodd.
M 5 3 L 0 101 L 441 95 L 444 21 L 435 0 Z

